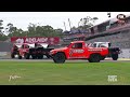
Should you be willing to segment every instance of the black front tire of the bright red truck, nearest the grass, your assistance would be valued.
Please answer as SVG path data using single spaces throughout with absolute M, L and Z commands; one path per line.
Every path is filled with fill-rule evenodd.
M 64 53 L 56 53 L 54 56 L 53 56 L 53 60 L 54 63 L 56 64 L 63 64 L 65 63 L 65 54 Z

